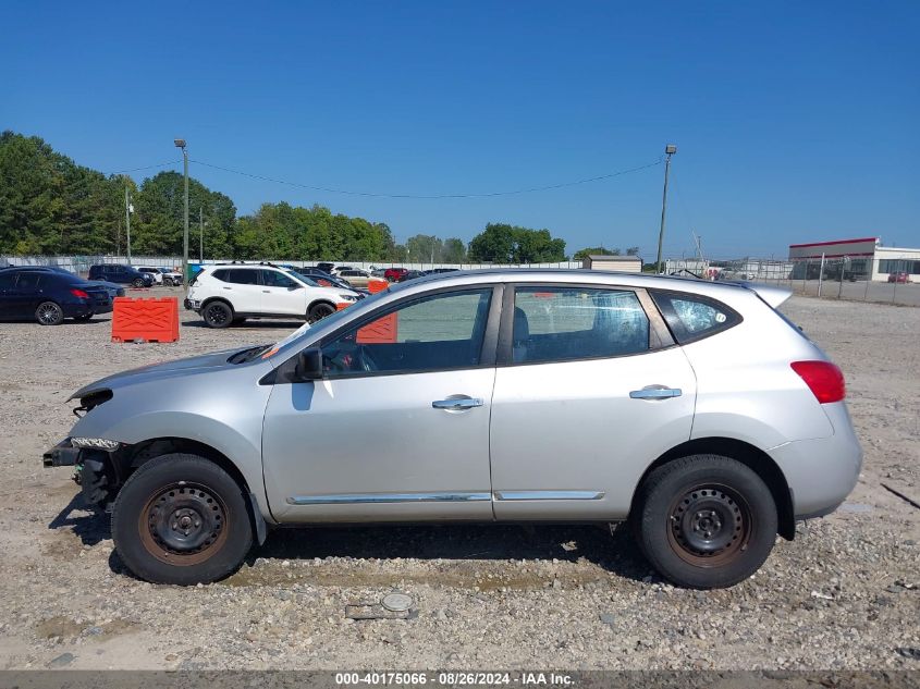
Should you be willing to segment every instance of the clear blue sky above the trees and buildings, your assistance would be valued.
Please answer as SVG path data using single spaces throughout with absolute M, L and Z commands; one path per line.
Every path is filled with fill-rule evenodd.
M 438 195 L 672 167 L 665 254 L 920 246 L 920 3 L 8 3 L 0 127 L 120 171 L 189 156 Z M 138 181 L 145 174 L 133 173 Z M 471 199 L 192 165 L 238 212 L 329 206 L 400 241 L 548 227 L 652 260 L 663 167 Z

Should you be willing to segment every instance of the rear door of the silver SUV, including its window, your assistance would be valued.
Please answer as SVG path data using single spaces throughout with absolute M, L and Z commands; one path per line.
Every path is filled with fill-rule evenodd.
M 696 379 L 642 290 L 506 294 L 490 431 L 496 519 L 611 519 L 689 440 Z

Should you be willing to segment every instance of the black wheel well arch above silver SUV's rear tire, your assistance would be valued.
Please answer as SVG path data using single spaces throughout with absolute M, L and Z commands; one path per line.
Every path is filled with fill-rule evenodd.
M 642 478 L 639 479 L 639 483 L 636 487 L 637 490 L 633 494 L 633 504 L 629 507 L 629 514 L 638 514 L 638 487 L 646 481 L 649 473 L 674 459 L 699 454 L 731 457 L 755 471 L 766 483 L 770 493 L 773 495 L 773 501 L 776 503 L 780 536 L 789 541 L 795 538 L 796 520 L 793 510 L 792 492 L 789 491 L 789 484 L 786 482 L 786 477 L 783 476 L 782 469 L 762 450 L 732 438 L 699 438 L 682 443 L 661 455 L 649 465 L 645 473 L 642 473 Z

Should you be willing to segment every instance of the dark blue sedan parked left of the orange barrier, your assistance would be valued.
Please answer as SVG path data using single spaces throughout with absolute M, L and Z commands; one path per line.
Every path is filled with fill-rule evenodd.
M 0 320 L 59 325 L 65 318 L 89 320 L 112 310 L 101 285 L 63 270 L 12 268 L 0 271 Z

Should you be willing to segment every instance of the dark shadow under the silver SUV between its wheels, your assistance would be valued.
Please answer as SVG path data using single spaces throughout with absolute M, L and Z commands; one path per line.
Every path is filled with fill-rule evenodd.
M 638 550 L 629 529 L 622 525 L 613 534 L 590 525 L 438 525 L 391 527 L 283 528 L 269 533 L 256 558 L 314 559 L 354 557 L 359 559 L 447 561 L 549 561 L 593 565 L 641 581 L 650 566 Z

